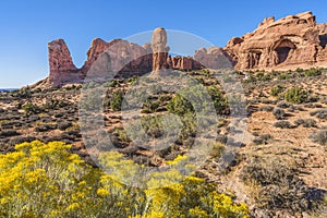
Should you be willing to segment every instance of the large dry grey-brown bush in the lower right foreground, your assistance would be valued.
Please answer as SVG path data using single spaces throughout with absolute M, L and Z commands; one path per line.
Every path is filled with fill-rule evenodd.
M 254 195 L 262 208 L 310 210 L 311 203 L 305 197 L 307 186 L 284 160 L 254 158 L 243 168 L 241 180 L 258 185 Z

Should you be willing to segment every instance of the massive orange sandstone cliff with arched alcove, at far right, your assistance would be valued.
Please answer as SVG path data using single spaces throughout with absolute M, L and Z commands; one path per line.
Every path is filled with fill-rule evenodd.
M 325 59 L 324 27 L 311 12 L 265 19 L 253 33 L 225 47 L 238 70 L 312 68 Z

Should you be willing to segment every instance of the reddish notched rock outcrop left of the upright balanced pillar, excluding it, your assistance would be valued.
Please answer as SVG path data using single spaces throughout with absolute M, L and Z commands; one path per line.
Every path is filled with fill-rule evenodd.
M 87 51 L 87 60 L 84 65 L 77 69 L 64 40 L 58 39 L 49 43 L 49 86 L 57 87 L 71 83 L 82 83 L 90 66 L 105 51 L 109 55 L 111 73 L 131 76 L 152 71 L 153 55 L 148 45 L 142 47 L 122 39 L 106 43 L 96 38 Z

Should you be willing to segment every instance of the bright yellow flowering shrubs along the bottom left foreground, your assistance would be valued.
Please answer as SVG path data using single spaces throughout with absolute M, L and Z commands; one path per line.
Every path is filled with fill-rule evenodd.
M 85 164 L 61 142 L 35 141 L 0 155 L 0 217 L 247 217 L 246 205 L 219 194 L 214 184 L 177 170 L 157 172 L 148 189 L 120 183 L 142 169 L 121 154 L 101 155 L 105 170 Z M 186 157 L 168 165 L 175 166 Z M 170 180 L 169 180 L 170 178 Z M 161 187 L 165 182 L 169 186 Z

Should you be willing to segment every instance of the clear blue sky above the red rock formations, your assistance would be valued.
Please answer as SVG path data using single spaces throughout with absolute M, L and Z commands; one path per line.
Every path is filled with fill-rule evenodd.
M 267 16 L 313 11 L 327 22 L 320 0 L 243 1 L 0 1 L 0 87 L 21 87 L 48 75 L 47 44 L 63 38 L 81 66 L 93 38 L 126 38 L 162 26 L 195 34 L 217 46 L 252 32 Z

